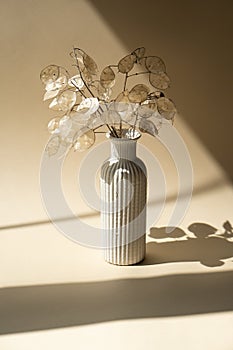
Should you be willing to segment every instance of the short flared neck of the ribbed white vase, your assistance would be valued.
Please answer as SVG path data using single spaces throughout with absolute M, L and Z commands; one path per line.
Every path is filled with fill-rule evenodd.
M 111 157 L 133 160 L 136 158 L 137 140 L 111 139 Z

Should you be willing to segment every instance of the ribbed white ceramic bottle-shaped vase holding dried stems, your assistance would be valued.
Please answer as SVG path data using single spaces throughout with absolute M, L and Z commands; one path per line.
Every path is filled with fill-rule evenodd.
M 145 257 L 147 174 L 137 139 L 110 137 L 111 156 L 101 167 L 101 225 L 105 260 L 132 265 Z

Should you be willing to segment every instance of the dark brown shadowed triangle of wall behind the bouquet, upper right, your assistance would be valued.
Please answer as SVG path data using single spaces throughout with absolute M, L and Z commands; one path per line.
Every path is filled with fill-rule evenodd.
M 182 118 L 233 178 L 233 1 L 91 3 L 129 49 L 164 58 Z

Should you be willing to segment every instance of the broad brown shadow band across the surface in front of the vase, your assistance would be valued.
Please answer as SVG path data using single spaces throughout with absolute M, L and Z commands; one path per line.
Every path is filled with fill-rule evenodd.
M 0 334 L 233 311 L 233 271 L 0 289 Z

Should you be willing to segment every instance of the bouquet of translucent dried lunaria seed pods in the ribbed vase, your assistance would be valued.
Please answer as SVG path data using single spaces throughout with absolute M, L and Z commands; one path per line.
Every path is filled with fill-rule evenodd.
M 49 108 L 57 112 L 48 124 L 53 135 L 46 148 L 49 155 L 56 154 L 61 145 L 88 149 L 102 126 L 112 137 L 134 139 L 140 132 L 156 137 L 163 121 L 173 122 L 176 108 L 164 94 L 170 79 L 161 58 L 146 56 L 140 47 L 98 75 L 97 64 L 82 49 L 74 48 L 70 55 L 75 75 L 54 64 L 40 73 L 44 100 L 52 99 Z M 132 86 L 132 78 L 138 75 L 146 76 L 150 87 Z M 122 90 L 112 97 L 116 78 L 122 80 Z

